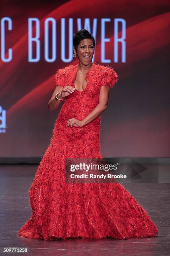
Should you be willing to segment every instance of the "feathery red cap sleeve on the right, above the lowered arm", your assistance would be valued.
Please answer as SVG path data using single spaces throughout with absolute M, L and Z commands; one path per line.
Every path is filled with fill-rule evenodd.
M 107 84 L 109 84 L 110 88 L 112 88 L 115 82 L 117 81 L 118 81 L 118 75 L 115 72 L 115 70 L 112 67 L 105 67 L 101 75 L 101 86 L 102 85 L 107 86 Z

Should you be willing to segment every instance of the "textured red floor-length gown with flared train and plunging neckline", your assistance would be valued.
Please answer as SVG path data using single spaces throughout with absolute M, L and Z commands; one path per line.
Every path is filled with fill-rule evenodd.
M 58 69 L 56 85 L 75 87 L 77 67 Z M 122 184 L 65 182 L 65 158 L 102 158 L 100 116 L 81 128 L 68 127 L 67 120 L 85 118 L 98 104 L 100 87 L 113 87 L 117 79 L 114 69 L 93 63 L 85 90 L 65 98 L 29 190 L 32 215 L 18 235 L 44 240 L 157 236 L 155 223 Z

